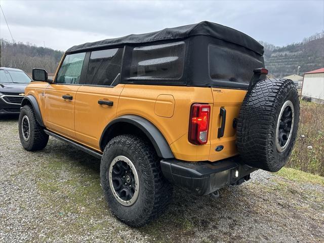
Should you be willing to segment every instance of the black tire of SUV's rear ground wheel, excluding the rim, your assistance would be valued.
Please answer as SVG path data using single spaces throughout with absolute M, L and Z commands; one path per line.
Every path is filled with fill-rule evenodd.
M 128 157 L 138 173 L 139 194 L 131 206 L 120 204 L 109 184 L 110 164 L 119 155 Z M 137 136 L 117 136 L 107 144 L 101 159 L 100 180 L 112 213 L 133 227 L 141 227 L 163 214 L 172 199 L 172 185 L 161 173 L 155 150 Z

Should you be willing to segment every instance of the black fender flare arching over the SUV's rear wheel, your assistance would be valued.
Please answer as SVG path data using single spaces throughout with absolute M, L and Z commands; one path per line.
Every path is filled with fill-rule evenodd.
M 147 138 L 159 157 L 174 158 L 163 134 L 149 120 L 138 115 L 122 115 L 110 121 L 102 132 L 100 150 L 103 151 L 113 137 L 121 134 L 134 134 Z

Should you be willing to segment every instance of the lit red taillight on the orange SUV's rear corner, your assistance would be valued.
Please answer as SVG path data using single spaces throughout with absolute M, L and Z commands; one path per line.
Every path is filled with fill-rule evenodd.
M 197 145 L 207 143 L 210 113 L 210 105 L 191 105 L 188 134 L 188 140 L 190 143 Z

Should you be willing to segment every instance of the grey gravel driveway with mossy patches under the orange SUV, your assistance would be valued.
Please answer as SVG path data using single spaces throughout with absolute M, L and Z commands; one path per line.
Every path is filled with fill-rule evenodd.
M 324 242 L 324 186 L 264 171 L 221 197 L 178 188 L 168 212 L 143 228 L 110 213 L 100 160 L 50 138 L 19 141 L 17 117 L 0 117 L 0 242 Z

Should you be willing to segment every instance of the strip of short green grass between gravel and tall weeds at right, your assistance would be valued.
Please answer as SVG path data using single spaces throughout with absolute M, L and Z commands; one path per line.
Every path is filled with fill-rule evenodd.
M 286 179 L 298 182 L 308 182 L 312 184 L 324 185 L 324 177 L 319 175 L 313 175 L 307 172 L 299 171 L 293 168 L 282 168 L 276 172 L 278 176 L 282 176 Z

